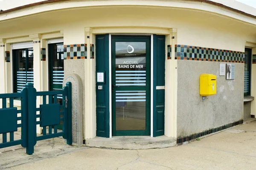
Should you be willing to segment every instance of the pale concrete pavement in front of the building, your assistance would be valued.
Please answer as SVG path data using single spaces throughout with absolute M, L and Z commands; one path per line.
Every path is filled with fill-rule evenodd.
M 252 120 L 252 119 L 250 119 Z M 255 120 L 255 119 L 254 119 Z M 246 121 L 245 121 L 246 122 Z M 50 139 L 49 139 L 50 140 Z M 177 147 L 115 150 L 70 147 L 55 140 L 0 153 L 0 169 L 11 170 L 255 170 L 256 121 Z M 57 141 L 56 141 L 57 140 Z M 54 141 L 53 141 L 54 142 Z M 57 152 L 58 150 L 58 152 Z

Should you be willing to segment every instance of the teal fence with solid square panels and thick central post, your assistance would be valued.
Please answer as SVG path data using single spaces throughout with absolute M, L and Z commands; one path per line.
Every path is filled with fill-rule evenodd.
M 59 136 L 63 136 L 64 139 L 67 139 L 67 144 L 71 145 L 71 91 L 71 82 L 67 82 L 61 91 L 36 91 L 32 83 L 27 83 L 20 93 L 0 94 L 3 105 L 0 108 L 0 134 L 3 138 L 0 148 L 21 144 L 22 147 L 26 147 L 26 153 L 32 155 L 37 141 Z M 62 103 L 57 102 L 59 95 L 62 95 Z M 36 101 L 37 98 L 40 99 L 38 96 L 42 97 L 43 104 L 37 108 Z M 7 99 L 9 99 L 9 107 L 7 107 Z M 20 99 L 21 109 L 18 110 L 17 107 L 14 107 L 14 99 Z M 21 116 L 18 116 L 18 113 Z M 40 120 L 37 121 L 37 119 Z M 21 123 L 18 124 L 18 122 Z M 57 125 L 61 122 L 63 122 L 63 129 L 57 130 Z M 40 136 L 37 136 L 36 133 L 37 125 L 43 129 L 43 134 Z M 21 128 L 21 139 L 14 140 L 14 132 L 19 127 Z

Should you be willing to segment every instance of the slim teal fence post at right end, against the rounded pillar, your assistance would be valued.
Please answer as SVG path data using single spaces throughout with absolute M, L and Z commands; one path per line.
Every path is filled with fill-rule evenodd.
M 67 144 L 72 144 L 72 84 L 66 83 L 67 86 Z

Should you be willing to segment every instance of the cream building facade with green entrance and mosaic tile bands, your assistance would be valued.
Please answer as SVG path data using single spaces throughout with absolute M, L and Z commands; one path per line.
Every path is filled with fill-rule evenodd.
M 256 114 L 255 8 L 220 0 L 11 3 L 0 3 L 0 93 L 26 82 L 58 90 L 76 77 L 75 142 L 165 135 L 182 143 Z M 201 74 L 216 76 L 216 94 L 204 99 Z

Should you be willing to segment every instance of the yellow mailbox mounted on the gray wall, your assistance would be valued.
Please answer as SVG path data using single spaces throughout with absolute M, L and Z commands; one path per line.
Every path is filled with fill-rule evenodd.
M 200 95 L 210 96 L 216 94 L 216 76 L 213 74 L 200 75 Z

